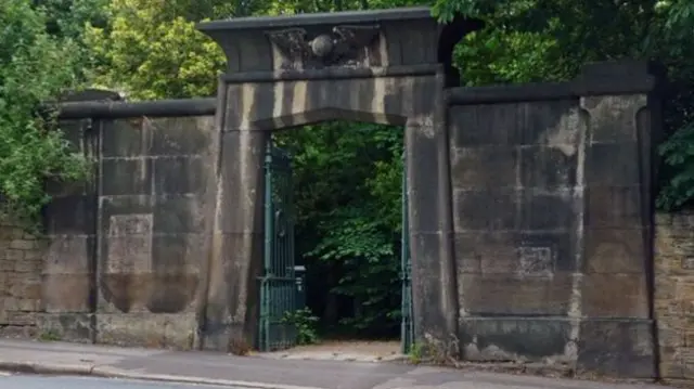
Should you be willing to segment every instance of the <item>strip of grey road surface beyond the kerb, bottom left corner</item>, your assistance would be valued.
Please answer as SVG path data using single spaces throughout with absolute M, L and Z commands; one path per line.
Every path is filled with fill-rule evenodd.
M 220 387 L 146 382 L 127 379 L 91 377 L 54 377 L 5 375 L 0 373 L 0 389 L 220 389 Z M 227 389 L 233 389 L 226 387 Z

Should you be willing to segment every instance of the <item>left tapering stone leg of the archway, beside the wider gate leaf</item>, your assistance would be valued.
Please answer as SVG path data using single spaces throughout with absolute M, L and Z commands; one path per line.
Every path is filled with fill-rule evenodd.
M 229 90 L 235 88 L 220 85 L 217 208 L 202 326 L 203 347 L 213 350 L 254 346 L 262 264 L 264 160 L 269 133 L 239 126 L 244 111 L 227 104 Z

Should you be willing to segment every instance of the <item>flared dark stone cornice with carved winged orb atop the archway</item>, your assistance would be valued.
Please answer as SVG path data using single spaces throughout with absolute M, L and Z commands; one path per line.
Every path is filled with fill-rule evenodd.
M 422 7 L 240 17 L 198 25 L 223 49 L 228 73 L 448 63 L 454 43 L 480 27 L 480 22 L 465 18 L 439 24 Z

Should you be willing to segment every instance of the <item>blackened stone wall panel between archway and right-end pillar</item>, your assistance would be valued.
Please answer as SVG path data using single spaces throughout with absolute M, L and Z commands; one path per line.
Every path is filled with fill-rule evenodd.
M 462 354 L 575 361 L 567 342 L 578 338 L 569 319 L 580 315 L 586 152 L 578 99 L 453 106 L 451 122 Z

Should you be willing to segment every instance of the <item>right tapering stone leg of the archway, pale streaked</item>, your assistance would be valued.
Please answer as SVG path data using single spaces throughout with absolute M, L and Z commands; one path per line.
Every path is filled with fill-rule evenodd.
M 459 350 L 458 297 L 442 74 L 435 80 L 433 109 L 406 126 L 412 297 L 417 341 L 449 358 Z

